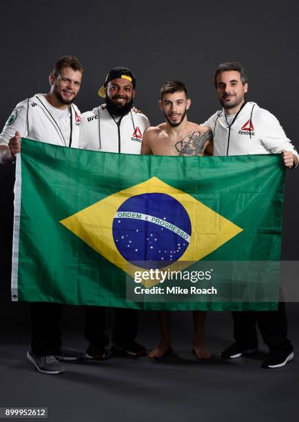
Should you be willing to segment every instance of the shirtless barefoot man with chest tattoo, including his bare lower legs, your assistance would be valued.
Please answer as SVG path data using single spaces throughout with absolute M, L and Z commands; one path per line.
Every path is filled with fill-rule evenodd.
M 212 155 L 212 132 L 209 128 L 187 120 L 187 110 L 191 100 L 187 97 L 187 88 L 181 81 L 167 81 L 161 87 L 159 107 L 166 122 L 148 128 L 143 137 L 141 154 L 176 155 L 184 157 Z M 193 352 L 197 359 L 208 359 L 211 353 L 203 342 L 205 311 L 193 311 L 194 339 Z M 172 350 L 169 311 L 158 312 L 161 341 L 149 358 L 161 358 Z

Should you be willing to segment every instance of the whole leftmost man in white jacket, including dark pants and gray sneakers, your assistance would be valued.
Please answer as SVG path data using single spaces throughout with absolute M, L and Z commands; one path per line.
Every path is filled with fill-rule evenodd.
M 21 101 L 0 134 L 0 162 L 14 163 L 21 152 L 21 137 L 66 148 L 79 147 L 81 117 L 73 104 L 81 87 L 83 68 L 74 56 L 63 56 L 49 75 L 50 92 Z M 57 359 L 74 361 L 83 356 L 61 349 L 61 303 L 31 303 L 32 339 L 27 357 L 43 374 L 60 374 Z

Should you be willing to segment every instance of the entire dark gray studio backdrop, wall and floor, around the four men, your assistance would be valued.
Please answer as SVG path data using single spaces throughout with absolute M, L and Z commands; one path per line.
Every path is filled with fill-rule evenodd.
M 214 69 L 237 60 L 249 72 L 248 99 L 273 112 L 296 144 L 298 15 L 296 0 L 2 2 L 0 125 L 19 101 L 48 91 L 48 74 L 63 54 L 75 54 L 85 68 L 76 101 L 81 111 L 99 104 L 96 92 L 112 66 L 128 66 L 137 77 L 136 105 L 152 124 L 163 120 L 156 101 L 171 78 L 189 88 L 189 120 L 207 119 L 219 108 Z M 298 177 L 299 169 L 287 172 L 283 259 L 298 259 Z M 47 405 L 56 422 L 298 421 L 297 359 L 282 372 L 264 372 L 262 342 L 264 352 L 253 359 L 220 359 L 231 341 L 228 312 L 209 312 L 207 344 L 216 356 L 204 363 L 188 349 L 191 315 L 174 312 L 178 356 L 164 362 L 120 357 L 99 365 L 74 363 L 54 379 L 33 371 L 25 359 L 28 304 L 10 303 L 13 179 L 13 166 L 0 165 L 1 406 Z M 288 304 L 288 311 L 289 336 L 298 350 L 297 303 Z M 65 317 L 63 341 L 84 350 L 82 307 L 65 307 Z M 139 326 L 138 341 L 152 348 L 156 317 L 141 312 Z

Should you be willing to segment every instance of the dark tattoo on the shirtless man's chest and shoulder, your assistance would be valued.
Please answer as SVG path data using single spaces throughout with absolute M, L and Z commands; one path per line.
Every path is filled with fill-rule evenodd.
M 207 132 L 204 133 L 194 131 L 187 134 L 185 138 L 183 138 L 181 141 L 178 141 L 174 146 L 179 153 L 178 155 L 200 155 L 203 154 L 207 142 L 211 141 L 211 130 L 207 130 Z

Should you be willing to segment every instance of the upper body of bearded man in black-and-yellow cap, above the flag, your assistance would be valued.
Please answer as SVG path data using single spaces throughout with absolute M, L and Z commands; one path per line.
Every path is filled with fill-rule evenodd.
M 81 148 L 140 154 L 147 117 L 132 110 L 136 79 L 128 68 L 112 68 L 99 96 L 105 104 L 82 114 Z

